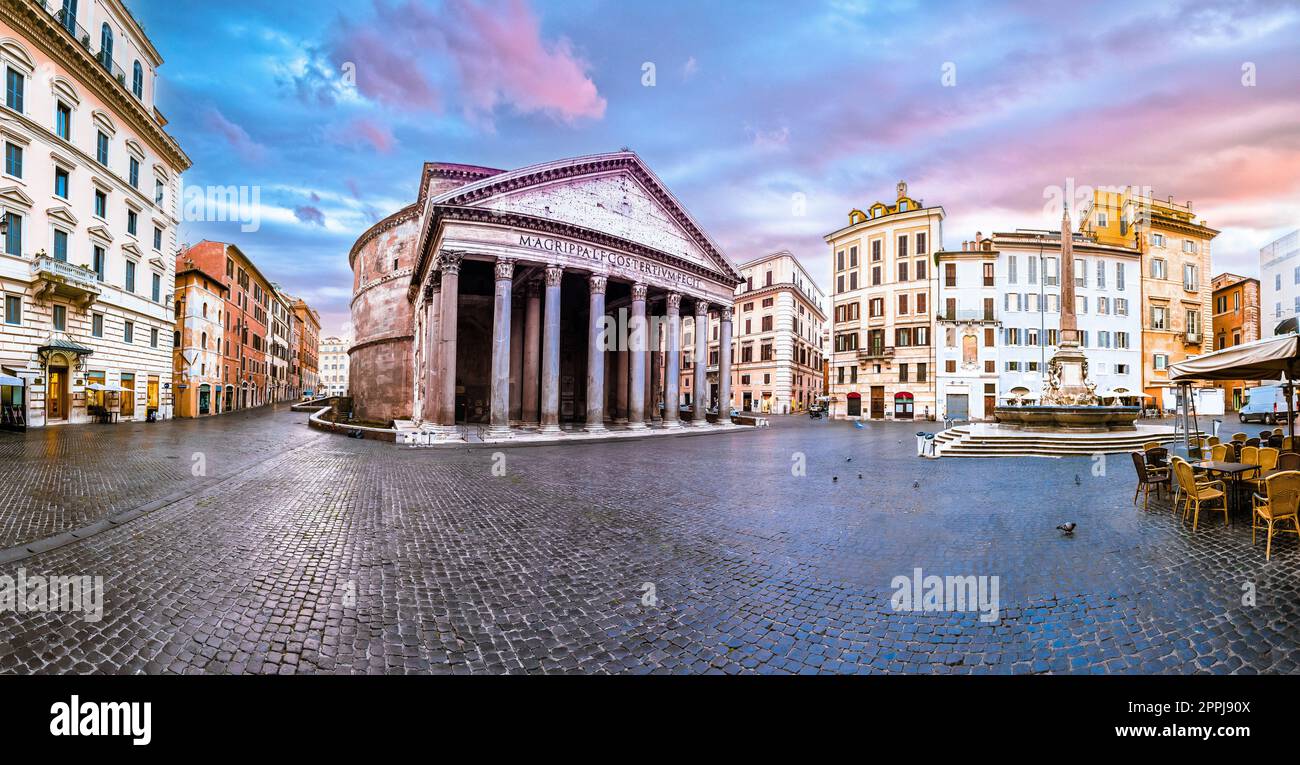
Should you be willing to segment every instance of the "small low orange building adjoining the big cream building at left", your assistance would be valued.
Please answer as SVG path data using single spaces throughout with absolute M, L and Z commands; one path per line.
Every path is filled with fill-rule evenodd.
M 220 273 L 209 273 L 185 256 L 176 264 L 176 330 L 172 350 L 172 389 L 176 416 L 221 414 L 221 362 L 225 306 L 230 289 Z

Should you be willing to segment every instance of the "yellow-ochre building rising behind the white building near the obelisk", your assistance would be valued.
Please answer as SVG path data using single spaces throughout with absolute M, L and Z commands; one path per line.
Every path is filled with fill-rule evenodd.
M 1096 190 L 1080 230 L 1141 255 L 1143 390 L 1171 405 L 1169 366 L 1212 350 L 1210 241 L 1192 203 L 1156 199 L 1149 189 Z

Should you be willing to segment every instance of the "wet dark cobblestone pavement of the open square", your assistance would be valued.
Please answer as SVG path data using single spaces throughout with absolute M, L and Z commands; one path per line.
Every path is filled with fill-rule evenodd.
M 1295 536 L 1274 540 L 1266 563 L 1244 513 L 1228 528 L 1202 518 L 1195 533 L 1166 503 L 1144 513 L 1127 455 L 1105 459 L 1104 476 L 1089 458 L 923 461 L 914 424 L 806 418 L 759 432 L 447 451 L 322 435 L 306 418 L 268 409 L 0 433 L 6 544 L 178 497 L 0 566 L 101 575 L 107 591 L 100 622 L 0 613 L 0 671 L 1300 664 Z M 196 451 L 207 477 L 191 475 Z M 806 475 L 793 475 L 801 461 Z M 1066 520 L 1072 536 L 1056 530 Z M 896 611 L 892 580 L 915 569 L 997 576 L 1000 619 Z

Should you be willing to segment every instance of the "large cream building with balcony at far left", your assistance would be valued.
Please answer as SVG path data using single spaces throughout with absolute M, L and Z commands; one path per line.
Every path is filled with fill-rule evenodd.
M 94 30 L 94 31 L 90 31 Z M 0 3 L 0 372 L 13 424 L 173 411 L 177 194 L 162 60 L 118 0 Z

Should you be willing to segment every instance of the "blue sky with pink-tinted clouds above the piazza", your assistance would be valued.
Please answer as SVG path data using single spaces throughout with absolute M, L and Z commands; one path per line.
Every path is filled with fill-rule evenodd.
M 1057 228 L 1061 189 L 1149 187 L 1257 275 L 1300 228 L 1300 3 L 127 0 L 187 186 L 257 189 L 239 245 L 348 329 L 347 252 L 425 161 L 632 148 L 723 251 L 824 288 L 849 209 L 942 206 L 944 245 Z

